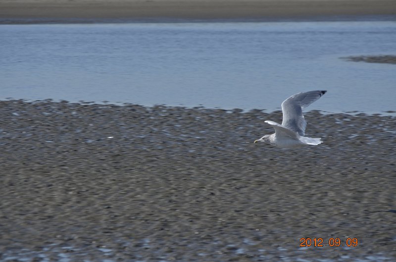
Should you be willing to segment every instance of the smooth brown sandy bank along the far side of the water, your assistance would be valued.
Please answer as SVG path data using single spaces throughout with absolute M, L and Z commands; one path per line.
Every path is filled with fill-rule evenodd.
M 1 23 L 395 15 L 395 0 L 1 0 Z

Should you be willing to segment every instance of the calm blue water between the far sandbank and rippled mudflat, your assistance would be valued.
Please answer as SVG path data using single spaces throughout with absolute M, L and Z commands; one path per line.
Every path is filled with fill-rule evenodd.
M 0 99 L 267 109 L 327 89 L 310 109 L 396 110 L 396 22 L 0 26 Z

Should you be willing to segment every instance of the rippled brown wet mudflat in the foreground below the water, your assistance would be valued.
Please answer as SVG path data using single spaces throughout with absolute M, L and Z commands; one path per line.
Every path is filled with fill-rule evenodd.
M 0 101 L 0 261 L 396 261 L 396 117 Z M 300 247 L 356 238 L 357 247 Z

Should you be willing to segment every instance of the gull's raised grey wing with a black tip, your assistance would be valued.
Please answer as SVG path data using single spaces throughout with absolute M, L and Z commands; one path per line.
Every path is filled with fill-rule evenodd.
M 282 126 L 299 135 L 305 135 L 306 121 L 302 109 L 318 100 L 327 91 L 316 90 L 305 93 L 297 93 L 282 102 L 283 120 Z

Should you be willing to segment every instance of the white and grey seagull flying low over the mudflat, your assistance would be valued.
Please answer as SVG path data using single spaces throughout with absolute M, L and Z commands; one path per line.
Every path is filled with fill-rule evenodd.
M 275 129 L 275 133 L 267 134 L 254 141 L 268 142 L 281 148 L 297 148 L 303 145 L 318 145 L 321 138 L 310 138 L 305 135 L 306 121 L 302 115 L 302 109 L 318 100 L 326 90 L 301 92 L 292 95 L 282 102 L 283 121 L 282 125 L 274 121 L 265 121 Z

